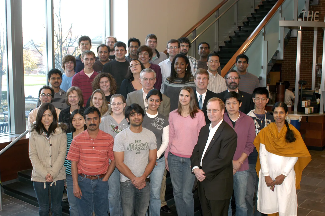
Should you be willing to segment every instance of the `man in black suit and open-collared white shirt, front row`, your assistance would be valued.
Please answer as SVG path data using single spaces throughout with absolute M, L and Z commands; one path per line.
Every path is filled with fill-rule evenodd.
M 191 156 L 192 172 L 198 179 L 198 195 L 204 216 L 227 216 L 233 190 L 232 158 L 236 132 L 223 120 L 225 104 L 219 98 L 207 102 L 211 121 L 201 128 Z

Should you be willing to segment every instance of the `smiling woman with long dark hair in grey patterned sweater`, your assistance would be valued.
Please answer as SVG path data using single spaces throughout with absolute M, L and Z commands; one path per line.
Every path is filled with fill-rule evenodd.
M 179 53 L 173 59 L 170 76 L 164 81 L 163 94 L 170 98 L 170 110 L 178 107 L 178 93 L 184 86 L 191 87 L 195 92 L 194 77 L 188 58 Z

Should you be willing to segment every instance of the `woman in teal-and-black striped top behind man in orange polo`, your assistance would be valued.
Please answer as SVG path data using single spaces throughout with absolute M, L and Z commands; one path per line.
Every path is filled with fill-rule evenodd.
M 70 133 L 67 133 L 67 155 L 70 149 L 71 141 L 73 137 L 77 136 L 82 131 L 87 129 L 84 121 L 84 109 L 75 109 L 70 117 Z M 73 195 L 73 182 L 71 176 L 71 161 L 67 160 L 67 156 L 65 157 L 64 166 L 66 167 L 65 173 L 67 175 L 67 195 L 68 201 L 70 204 L 70 215 L 78 216 L 78 207 L 77 207 L 77 199 Z

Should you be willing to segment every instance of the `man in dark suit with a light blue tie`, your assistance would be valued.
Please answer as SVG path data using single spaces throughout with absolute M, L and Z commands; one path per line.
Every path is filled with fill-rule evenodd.
M 206 104 L 208 100 L 212 97 L 217 97 L 217 94 L 208 90 L 209 84 L 209 73 L 207 70 L 200 68 L 194 74 L 194 82 L 196 86 L 196 91 L 194 92 L 196 105 L 204 113 L 205 123 L 209 124 L 210 120 L 206 113 Z

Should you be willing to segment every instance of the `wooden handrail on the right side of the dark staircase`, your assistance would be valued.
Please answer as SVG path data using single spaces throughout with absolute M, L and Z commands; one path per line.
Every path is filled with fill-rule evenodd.
M 282 5 L 284 0 L 278 0 L 277 3 L 272 7 L 272 9 L 267 13 L 267 15 L 263 18 L 263 20 L 258 24 L 252 34 L 245 40 L 245 42 L 241 45 L 241 47 L 237 50 L 237 52 L 231 57 L 229 62 L 225 65 L 221 70 L 221 76 L 225 76 L 230 68 L 236 63 L 236 57 L 242 54 L 248 47 L 251 45 L 253 40 L 257 37 L 260 31 L 265 27 L 266 23 L 273 17 L 273 15 L 278 10 L 279 6 Z

